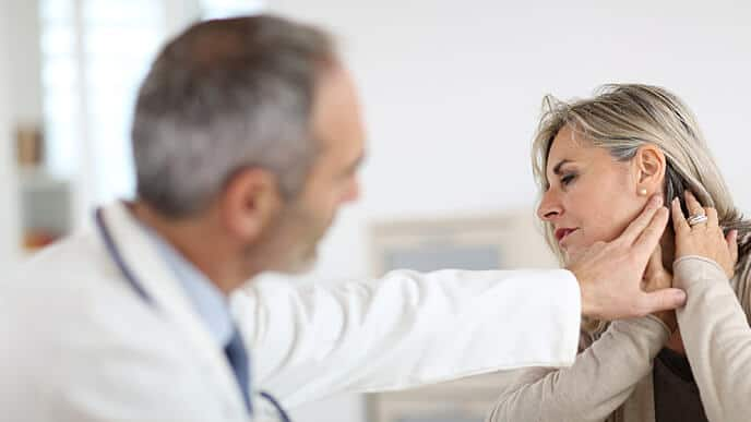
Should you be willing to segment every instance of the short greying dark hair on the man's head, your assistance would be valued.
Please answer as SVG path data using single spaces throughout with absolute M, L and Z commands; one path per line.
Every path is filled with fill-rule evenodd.
M 317 81 L 336 53 L 327 34 L 259 15 L 198 23 L 159 53 L 132 128 L 136 190 L 158 212 L 207 207 L 238 171 L 273 172 L 294 197 L 315 159 Z

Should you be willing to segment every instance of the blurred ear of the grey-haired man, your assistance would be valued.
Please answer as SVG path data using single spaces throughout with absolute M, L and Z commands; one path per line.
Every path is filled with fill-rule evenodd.
M 259 168 L 235 174 L 223 192 L 220 214 L 229 232 L 243 241 L 255 239 L 282 207 L 276 177 Z

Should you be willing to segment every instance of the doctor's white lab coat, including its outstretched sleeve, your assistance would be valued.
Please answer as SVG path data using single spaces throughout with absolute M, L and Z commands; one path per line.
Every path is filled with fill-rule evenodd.
M 105 219 L 126 282 L 86 229 L 0 284 L 0 412 L 8 421 L 248 421 L 216 346 L 121 204 Z M 580 292 L 565 270 L 393 272 L 337 288 L 249 282 L 230 305 L 252 389 L 290 408 L 339 391 L 419 386 L 528 365 L 570 365 Z M 253 397 L 254 421 L 274 413 Z

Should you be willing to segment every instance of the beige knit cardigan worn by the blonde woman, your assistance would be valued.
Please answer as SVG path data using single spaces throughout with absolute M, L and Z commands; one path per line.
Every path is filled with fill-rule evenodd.
M 751 328 L 731 284 L 699 256 L 677 260 L 673 274 L 688 296 L 678 325 L 708 420 L 751 420 Z M 571 367 L 518 371 L 488 421 L 654 422 L 652 360 L 669 335 L 654 316 L 616 321 Z

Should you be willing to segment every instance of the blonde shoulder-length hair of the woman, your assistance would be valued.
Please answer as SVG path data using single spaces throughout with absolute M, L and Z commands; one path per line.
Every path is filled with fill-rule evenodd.
M 592 145 L 606 148 L 613 159 L 632 159 L 640 146 L 653 144 L 665 154 L 665 203 L 689 190 L 704 205 L 717 209 L 719 224 L 737 229 L 739 257 L 734 280 L 736 294 L 746 314 L 751 314 L 749 266 L 751 265 L 751 220 L 743 219 L 712 158 L 696 120 L 689 108 L 668 91 L 648 85 L 609 84 L 594 98 L 564 103 L 552 96 L 544 99 L 544 113 L 537 129 L 532 162 L 540 193 L 548 189 L 548 154 L 558 132 L 568 125 Z M 562 258 L 551 225 L 543 222 L 552 251 Z M 600 324 L 598 326 L 601 327 Z

